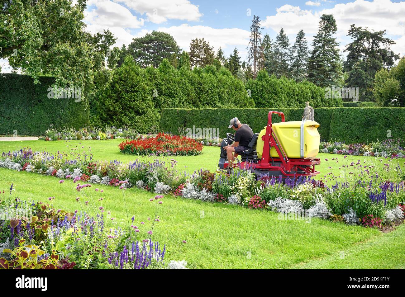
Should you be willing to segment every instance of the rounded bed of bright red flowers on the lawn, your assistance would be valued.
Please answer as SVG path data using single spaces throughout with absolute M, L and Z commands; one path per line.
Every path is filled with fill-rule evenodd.
M 126 140 L 118 147 L 124 154 L 155 156 L 199 155 L 203 150 L 203 145 L 196 140 L 164 133 L 159 133 L 152 138 Z

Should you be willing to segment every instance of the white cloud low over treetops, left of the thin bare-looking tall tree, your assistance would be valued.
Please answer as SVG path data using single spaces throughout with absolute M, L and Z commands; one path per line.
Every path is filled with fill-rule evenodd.
M 168 28 L 158 28 L 158 31 L 171 34 L 177 41 L 179 47 L 185 51 L 190 50 L 190 42 L 194 38 L 204 38 L 209 41 L 211 47 L 217 51 L 219 47 L 231 52 L 236 46 L 240 49 L 240 55 L 244 57 L 246 48 L 249 43 L 250 32 L 238 28 L 215 29 L 208 26 L 182 24 L 180 26 L 171 26 Z

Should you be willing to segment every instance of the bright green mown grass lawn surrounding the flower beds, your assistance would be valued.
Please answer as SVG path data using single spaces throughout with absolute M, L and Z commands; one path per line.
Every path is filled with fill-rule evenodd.
M 79 142 L 80 148 L 84 146 L 83 150 L 91 147 L 94 159 L 119 159 L 123 162 L 136 159 L 136 156 L 119 153 L 119 140 L 0 142 L 0 152 L 29 146 L 34 151 L 67 153 L 67 145 L 76 147 Z M 201 167 L 215 170 L 218 157 L 219 148 L 204 147 L 200 156 L 175 159 L 179 162 L 179 170 L 188 166 L 186 169 L 192 172 Z M 319 167 L 322 175 L 330 171 L 323 159 L 331 160 L 333 157 L 339 157 L 339 160 L 343 158 L 321 154 L 322 165 Z M 353 159 L 357 161 L 367 158 Z M 338 168 L 333 168 L 333 171 L 339 173 Z M 13 182 L 16 187 L 13 196 L 20 199 L 47 201 L 48 197 L 55 196 L 53 204 L 57 208 L 79 208 L 75 201 L 78 192 L 74 190 L 72 181 L 66 180 L 60 184 L 55 177 L 3 168 L 0 168 L 0 176 L 0 190 L 5 189 L 7 193 Z M 106 211 L 111 211 L 111 217 L 116 219 L 109 220 L 109 225 L 115 222 L 126 226 L 122 190 L 102 185 L 97 187 L 104 189 L 102 206 Z M 93 200 L 99 206 L 100 192 L 95 192 L 94 188 L 79 194 L 87 196 L 81 197 L 81 201 Z M 153 218 L 156 209 L 155 202 L 149 202 L 154 194 L 139 189 L 128 189 L 124 193 L 129 216 L 135 216 L 135 223 L 138 222 L 142 233 L 148 231 L 147 218 Z M 166 259 L 186 260 L 190 268 L 404 268 L 405 265 L 404 225 L 384 234 L 375 229 L 322 219 L 313 219 L 311 223 L 279 220 L 276 213 L 269 211 L 170 195 L 163 198 L 158 212 L 160 222 L 153 229 L 153 240 L 166 244 Z M 141 221 L 146 224 L 140 225 Z M 183 240 L 187 243 L 182 243 Z M 342 251 L 344 259 L 340 259 Z

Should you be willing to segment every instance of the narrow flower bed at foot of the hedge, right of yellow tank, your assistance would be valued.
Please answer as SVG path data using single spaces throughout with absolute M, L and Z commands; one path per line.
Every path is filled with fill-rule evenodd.
M 383 142 L 371 142 L 371 144 L 345 144 L 339 140 L 333 142 L 321 142 L 319 152 L 337 155 L 374 156 L 405 158 L 405 151 L 400 146 L 400 139 L 387 139 Z

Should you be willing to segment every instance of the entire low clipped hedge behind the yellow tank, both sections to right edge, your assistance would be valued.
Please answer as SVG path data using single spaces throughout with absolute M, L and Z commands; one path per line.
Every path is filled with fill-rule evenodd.
M 254 132 L 260 132 L 267 123 L 271 108 L 205 108 L 183 109 L 165 108 L 160 116 L 160 131 L 179 134 L 179 129 L 219 128 L 220 137 L 225 137 L 229 121 L 233 117 L 247 123 Z M 273 109 L 282 111 L 286 121 L 300 121 L 303 108 Z M 322 140 L 340 139 L 347 144 L 369 143 L 385 140 L 388 130 L 391 138 L 403 138 L 405 135 L 405 108 L 402 107 L 325 107 L 314 108 L 315 121 L 320 123 L 318 129 Z M 273 123 L 280 121 L 275 115 Z

